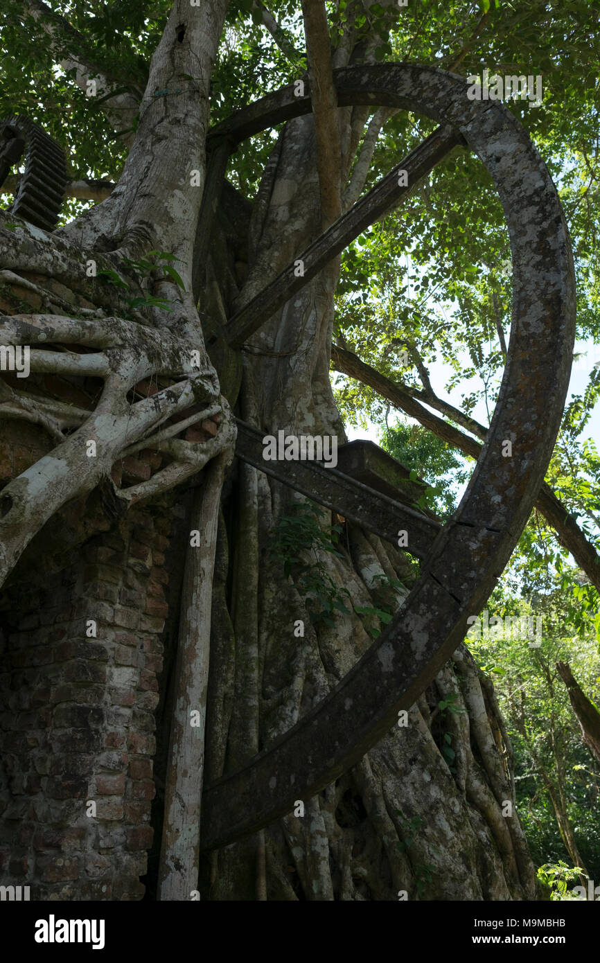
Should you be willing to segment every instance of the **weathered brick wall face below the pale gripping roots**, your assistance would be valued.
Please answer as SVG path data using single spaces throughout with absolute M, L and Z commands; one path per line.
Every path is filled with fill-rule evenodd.
M 30 885 L 32 899 L 143 896 L 169 514 L 134 508 L 43 584 L 11 588 L 0 879 Z

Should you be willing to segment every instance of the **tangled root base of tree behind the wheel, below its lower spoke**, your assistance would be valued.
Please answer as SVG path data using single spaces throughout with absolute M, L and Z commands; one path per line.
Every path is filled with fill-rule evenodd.
M 273 532 L 289 503 L 276 482 L 260 474 L 255 481 L 249 508 L 248 486 L 246 497 L 239 495 L 241 513 L 235 515 L 229 543 L 237 558 L 230 584 L 223 527 L 217 553 L 209 783 L 251 755 L 257 730 L 265 746 L 287 731 L 326 697 L 370 644 L 363 624 L 350 614 L 336 614 L 334 629 L 311 624 L 306 600 L 266 551 L 264 533 Z M 343 558 L 323 553 L 319 560 L 337 585 L 349 587 L 353 604 L 385 604 L 378 595 L 382 572 L 410 586 L 402 553 L 354 526 L 346 529 L 340 537 Z M 254 594 L 262 605 L 236 617 L 246 586 L 256 578 L 257 553 L 261 565 Z M 302 637 L 282 631 L 281 612 L 303 619 Z M 463 647 L 456 660 L 456 670 L 451 663 L 438 673 L 409 711 L 407 724 L 397 725 L 349 772 L 312 798 L 299 787 L 303 818 L 290 813 L 262 831 L 267 898 L 535 898 L 518 814 L 512 808 L 509 815 L 506 805 L 513 789 L 498 761 L 497 706 Z M 438 703 L 453 693 L 461 711 L 442 715 Z M 446 733 L 456 753 L 454 766 L 443 754 Z M 501 748 L 509 751 L 504 738 Z M 207 854 L 202 898 L 261 898 L 261 859 L 259 833 Z

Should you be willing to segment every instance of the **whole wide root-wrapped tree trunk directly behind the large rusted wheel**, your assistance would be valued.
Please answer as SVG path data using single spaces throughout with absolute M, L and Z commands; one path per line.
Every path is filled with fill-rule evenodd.
M 352 115 L 340 114 L 342 141 L 348 144 Z M 229 304 L 221 281 L 226 313 L 293 261 L 320 226 L 314 123 L 303 117 L 286 126 L 274 148 L 251 214 L 248 280 L 240 294 L 230 291 Z M 232 264 L 231 254 L 229 284 Z M 208 276 L 220 273 L 225 273 L 222 253 L 213 258 Z M 244 351 L 241 415 L 265 433 L 284 429 L 345 440 L 327 372 L 335 281 L 335 269 L 319 275 Z M 217 298 L 208 300 L 216 311 Z M 289 729 L 371 641 L 353 613 L 336 612 L 334 627 L 311 624 L 306 599 L 274 562 L 270 542 L 292 503 L 289 490 L 242 465 L 224 505 L 206 782 L 239 768 Z M 343 558 L 321 553 L 320 561 L 337 586 L 349 589 L 353 605 L 390 602 L 378 576 L 410 584 L 410 566 L 400 551 L 350 523 L 342 541 Z M 392 604 L 396 608 L 398 598 Z M 304 632 L 297 638 L 299 620 Z M 461 713 L 446 717 L 437 703 L 452 692 Z M 504 731 L 491 686 L 483 684 L 460 647 L 413 707 L 406 727 L 390 733 L 315 798 L 301 799 L 299 793 L 303 816 L 290 814 L 205 856 L 202 897 L 264 898 L 257 880 L 264 878 L 266 852 L 268 899 L 397 899 L 404 893 L 424 899 L 534 898 L 533 866 L 518 817 L 507 806 L 513 789 L 508 746 L 499 735 Z M 447 733 L 454 764 L 443 754 Z M 409 832 L 410 820 L 420 831 Z M 414 836 L 409 847 L 403 844 L 406 835 Z

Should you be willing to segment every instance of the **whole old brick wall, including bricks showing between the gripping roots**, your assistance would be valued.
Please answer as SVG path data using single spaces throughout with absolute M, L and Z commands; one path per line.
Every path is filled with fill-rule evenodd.
M 0 310 L 27 310 L 21 299 L 41 306 L 31 291 L 0 285 Z M 97 392 L 84 378 L 3 377 L 19 391 L 84 407 Z M 203 422 L 185 437 L 216 431 L 215 421 Z M 0 490 L 50 448 L 38 426 L 3 421 Z M 146 480 L 161 459 L 143 450 L 117 462 L 113 479 Z M 179 492 L 116 517 L 96 489 L 46 523 L 0 594 L 0 885 L 29 886 L 31 899 L 143 897 L 155 710 L 165 636 L 176 633 L 179 586 L 170 572 L 180 580 L 186 502 Z

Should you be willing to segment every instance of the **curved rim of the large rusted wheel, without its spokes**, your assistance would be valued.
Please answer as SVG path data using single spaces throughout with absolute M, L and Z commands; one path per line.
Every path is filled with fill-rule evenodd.
M 431 545 L 404 607 L 339 685 L 247 766 L 207 787 L 201 846 L 224 846 L 290 812 L 352 767 L 395 726 L 464 638 L 534 505 L 568 387 L 575 282 L 550 175 L 508 108 L 467 99 L 461 77 L 430 67 L 336 71 L 340 107 L 400 107 L 450 124 L 479 155 L 502 200 L 512 250 L 513 309 L 498 403 L 469 486 Z M 211 137 L 244 140 L 310 113 L 294 86 L 224 121 Z M 503 455 L 510 441 L 512 455 Z M 408 538 L 410 534 L 408 533 Z

